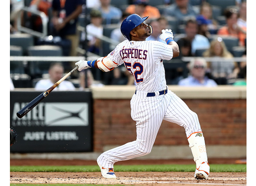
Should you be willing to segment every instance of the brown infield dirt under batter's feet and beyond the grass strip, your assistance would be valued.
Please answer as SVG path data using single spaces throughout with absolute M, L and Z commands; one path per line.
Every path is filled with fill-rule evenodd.
M 212 163 L 234 163 L 235 160 L 211 160 Z M 193 160 L 129 160 L 116 164 L 191 164 Z M 10 165 L 96 165 L 95 161 L 84 160 L 10 160 Z M 117 179 L 101 177 L 99 172 L 10 172 L 10 183 L 92 183 L 123 184 L 133 186 L 244 186 L 246 173 L 210 173 L 208 180 L 194 179 L 192 172 L 116 172 Z

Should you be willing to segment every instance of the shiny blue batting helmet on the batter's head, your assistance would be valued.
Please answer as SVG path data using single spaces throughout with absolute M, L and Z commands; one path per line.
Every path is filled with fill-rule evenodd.
M 125 18 L 125 20 L 122 22 L 121 25 L 121 32 L 122 34 L 128 39 L 131 40 L 130 38 L 130 32 L 132 31 L 132 29 L 134 29 L 135 27 L 137 27 L 138 25 L 140 25 L 141 23 L 143 23 L 147 17 L 141 18 L 140 15 L 137 14 L 131 14 L 129 15 L 127 18 Z M 150 33 L 153 32 L 152 27 L 149 25 L 150 27 Z

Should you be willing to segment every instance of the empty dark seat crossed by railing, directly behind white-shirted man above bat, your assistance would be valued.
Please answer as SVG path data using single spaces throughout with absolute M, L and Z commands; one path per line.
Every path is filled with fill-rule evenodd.
M 62 47 L 56 45 L 37 45 L 28 48 L 29 56 L 62 56 Z M 29 63 L 31 76 L 34 78 L 47 74 L 50 63 L 54 61 L 34 61 Z

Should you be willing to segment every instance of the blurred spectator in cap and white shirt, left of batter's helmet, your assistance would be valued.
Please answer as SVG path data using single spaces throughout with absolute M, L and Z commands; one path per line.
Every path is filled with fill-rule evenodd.
M 100 39 L 95 37 L 92 34 L 97 36 L 103 35 L 103 25 L 102 25 L 102 15 L 100 10 L 92 9 L 90 12 L 91 23 L 86 26 L 87 31 L 87 40 L 88 40 L 88 51 L 99 55 L 100 53 Z M 91 34 L 92 33 L 92 34 Z M 85 40 L 85 33 L 81 34 L 81 40 Z

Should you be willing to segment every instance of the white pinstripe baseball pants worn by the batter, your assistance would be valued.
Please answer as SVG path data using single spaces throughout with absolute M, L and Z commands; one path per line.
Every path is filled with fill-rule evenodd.
M 103 152 L 97 158 L 103 167 L 113 168 L 117 161 L 149 154 L 163 120 L 184 127 L 187 137 L 202 131 L 197 114 L 170 90 L 165 95 L 152 97 L 137 91 L 131 99 L 131 118 L 136 121 L 137 139 Z

